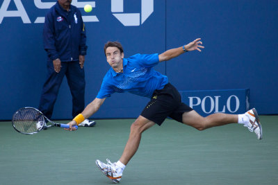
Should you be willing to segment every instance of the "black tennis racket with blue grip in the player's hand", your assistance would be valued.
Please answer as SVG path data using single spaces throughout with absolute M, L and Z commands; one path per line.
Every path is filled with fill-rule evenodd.
M 47 125 L 47 127 L 70 128 L 70 125 L 55 123 L 49 120 L 49 118 L 44 116 L 42 112 L 33 107 L 23 107 L 18 109 L 17 112 L 13 114 L 12 123 L 17 132 L 22 134 L 35 134 L 42 130 L 42 127 L 45 125 L 44 119 L 47 119 L 47 121 L 51 123 L 51 125 Z M 75 125 L 74 127 L 78 129 L 78 126 Z

